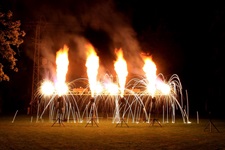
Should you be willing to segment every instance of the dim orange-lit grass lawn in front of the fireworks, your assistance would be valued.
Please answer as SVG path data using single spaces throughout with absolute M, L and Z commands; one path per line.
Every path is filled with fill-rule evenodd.
M 30 116 L 0 117 L 0 149 L 225 149 L 225 121 L 212 120 L 210 132 L 209 120 L 199 124 L 193 119 L 191 124 L 181 120 L 176 123 L 131 123 L 117 126 L 112 120 L 100 119 L 95 124 L 63 122 L 65 126 L 54 122 L 32 121 Z M 206 128 L 207 127 L 207 128 Z

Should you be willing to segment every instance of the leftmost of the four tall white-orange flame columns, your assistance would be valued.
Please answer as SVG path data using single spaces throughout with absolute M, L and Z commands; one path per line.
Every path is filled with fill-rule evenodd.
M 55 83 L 55 88 L 58 95 L 66 94 L 68 91 L 68 86 L 66 85 L 66 74 L 68 71 L 69 59 L 68 59 L 69 48 L 64 45 L 63 49 L 60 49 L 56 53 L 56 77 L 57 81 Z

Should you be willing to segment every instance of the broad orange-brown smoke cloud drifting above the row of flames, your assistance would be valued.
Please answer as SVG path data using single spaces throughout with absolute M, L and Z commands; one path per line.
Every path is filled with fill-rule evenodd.
M 93 2 L 67 0 L 63 3 L 24 1 L 25 6 L 27 7 L 25 13 L 30 12 L 31 18 L 41 22 L 40 53 L 48 60 L 47 68 L 51 72 L 49 74 L 54 76 L 56 51 L 66 44 L 69 47 L 70 61 L 68 80 L 86 76 L 84 46 L 87 42 L 96 48 L 100 57 L 101 73 L 115 73 L 114 51 L 118 48 L 123 50 L 128 72 L 131 74 L 142 72 L 141 48 L 136 33 L 132 29 L 130 19 L 117 10 L 112 0 Z M 89 33 L 90 30 L 94 32 Z M 99 34 L 100 32 L 104 34 Z M 101 37 L 102 35 L 107 38 Z M 27 54 L 33 55 L 31 52 Z

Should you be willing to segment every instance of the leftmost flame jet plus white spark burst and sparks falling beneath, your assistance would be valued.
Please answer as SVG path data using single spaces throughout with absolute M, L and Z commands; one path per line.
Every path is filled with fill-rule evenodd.
M 68 60 L 68 51 L 69 48 L 64 45 L 63 49 L 60 49 L 56 53 L 56 81 L 55 84 L 53 84 L 50 81 L 45 81 L 42 83 L 41 86 L 41 92 L 44 93 L 44 95 L 39 95 L 39 99 L 41 99 L 40 103 L 38 104 L 38 111 L 37 111 L 37 118 L 39 117 L 39 113 L 41 112 L 40 118 L 42 119 L 44 113 L 48 111 L 49 113 L 49 119 L 53 120 L 54 116 L 58 117 L 58 111 L 57 109 L 57 96 L 62 97 L 64 100 L 65 106 L 64 108 L 60 108 L 60 120 L 61 122 L 62 118 L 69 118 L 70 112 L 73 112 L 73 117 L 74 113 L 77 112 L 77 118 L 80 118 L 80 113 L 79 110 L 77 109 L 78 106 L 76 103 L 74 103 L 73 107 L 71 107 L 71 99 L 74 99 L 74 97 L 70 97 L 70 91 L 68 88 L 68 85 L 66 84 L 66 74 L 68 71 L 68 65 L 69 65 L 69 60 Z M 48 101 L 48 99 L 50 99 Z M 42 105 L 43 110 L 39 110 L 39 106 Z M 64 109 L 62 111 L 61 109 Z M 55 115 L 56 114 L 56 115 Z M 56 119 L 58 120 L 58 119 Z M 54 125 L 54 124 L 53 124 Z

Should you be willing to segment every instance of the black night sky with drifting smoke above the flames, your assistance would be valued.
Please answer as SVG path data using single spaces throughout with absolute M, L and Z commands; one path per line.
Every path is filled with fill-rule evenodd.
M 135 65 L 140 63 L 133 56 L 141 51 L 148 52 L 153 56 L 158 73 L 163 73 L 167 78 L 178 74 L 183 89 L 188 91 L 193 112 L 207 108 L 221 113 L 225 100 L 225 4 L 222 2 L 2 0 L 0 11 L 8 9 L 22 21 L 23 30 L 27 32 L 21 59 L 32 58 L 32 37 L 29 33 L 34 27 L 31 24 L 41 18 L 47 24 L 42 31 L 46 33 L 42 37 L 45 39 L 43 55 L 46 54 L 52 61 L 54 52 L 63 44 L 76 48 L 82 46 L 82 37 L 96 47 L 102 65 L 108 68 L 105 71 L 109 72 L 112 72 L 109 68 L 113 65 L 115 48 L 123 48 L 134 74 L 139 72 Z M 73 72 L 69 73 L 69 80 L 84 75 L 78 71 L 82 68 L 76 67 L 84 61 L 82 51 L 76 48 L 70 50 L 70 59 L 73 59 L 70 70 Z M 18 74 L 24 75 L 24 71 L 29 78 L 29 74 L 32 75 L 29 70 L 32 69 L 26 66 L 30 63 L 24 60 L 20 62 L 23 67 Z M 12 80 L 3 84 L 15 84 L 11 83 L 15 82 Z M 28 82 L 29 86 L 31 84 Z M 29 95 L 30 90 L 23 92 Z M 22 96 L 21 99 L 27 97 L 29 99 L 29 96 Z

